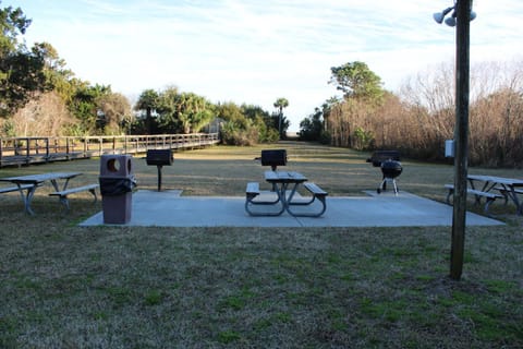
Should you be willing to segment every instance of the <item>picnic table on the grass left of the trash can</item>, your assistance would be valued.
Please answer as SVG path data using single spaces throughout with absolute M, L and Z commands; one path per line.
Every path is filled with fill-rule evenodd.
M 31 208 L 31 202 L 35 194 L 37 188 L 41 186 L 45 182 L 49 181 L 54 188 L 56 192 L 60 193 L 68 189 L 69 181 L 77 176 L 81 176 L 82 172 L 48 172 L 48 173 L 38 173 L 38 174 L 27 174 L 27 176 L 15 176 L 0 178 L 1 182 L 10 182 L 16 185 L 20 191 L 20 195 L 24 201 L 24 209 L 29 215 L 35 213 Z M 62 186 L 60 188 L 59 181 L 63 181 Z M 16 189 L 14 189 L 16 190 Z M 24 190 L 27 193 L 24 195 Z

